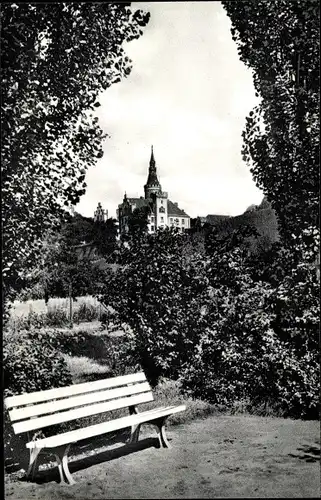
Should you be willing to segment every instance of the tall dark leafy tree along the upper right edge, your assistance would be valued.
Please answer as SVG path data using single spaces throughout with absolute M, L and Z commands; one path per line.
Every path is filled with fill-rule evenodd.
M 284 242 L 312 260 L 319 251 L 319 3 L 222 3 L 261 99 L 246 119 L 244 159 Z

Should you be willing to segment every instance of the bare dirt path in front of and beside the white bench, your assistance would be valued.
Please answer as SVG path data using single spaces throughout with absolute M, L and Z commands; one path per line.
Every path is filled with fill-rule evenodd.
M 217 498 L 320 495 L 318 422 L 251 416 L 209 417 L 170 427 L 171 449 L 150 430 L 133 449 L 73 458 L 74 486 L 6 480 L 10 500 Z M 130 453 L 126 453 L 126 451 Z

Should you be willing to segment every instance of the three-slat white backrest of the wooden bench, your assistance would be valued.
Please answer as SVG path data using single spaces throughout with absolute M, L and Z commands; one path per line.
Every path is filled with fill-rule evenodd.
M 9 410 L 15 434 L 153 401 L 143 372 L 46 391 L 10 396 Z

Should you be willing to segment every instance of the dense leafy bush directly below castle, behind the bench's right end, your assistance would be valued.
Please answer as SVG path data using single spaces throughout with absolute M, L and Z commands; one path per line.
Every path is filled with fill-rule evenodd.
M 202 323 L 200 300 L 194 299 L 207 283 L 200 259 L 183 255 L 183 238 L 169 230 L 146 238 L 143 245 L 134 241 L 129 255 L 123 249 L 124 266 L 109 276 L 102 302 L 116 311 L 115 324 L 130 326 L 123 342 L 131 364 L 156 385 L 160 376 L 177 378 L 188 360 Z

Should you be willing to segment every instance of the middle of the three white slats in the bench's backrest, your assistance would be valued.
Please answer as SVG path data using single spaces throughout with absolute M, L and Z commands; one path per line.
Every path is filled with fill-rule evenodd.
M 142 382 L 117 389 L 107 389 L 104 391 L 82 394 L 80 396 L 72 396 L 70 398 L 59 399 L 58 401 L 51 401 L 49 403 L 41 403 L 18 409 L 15 408 L 9 412 L 9 415 L 11 421 L 15 422 L 16 420 L 23 420 L 61 410 L 68 410 L 77 406 L 84 406 L 148 391 L 151 391 L 149 383 Z

